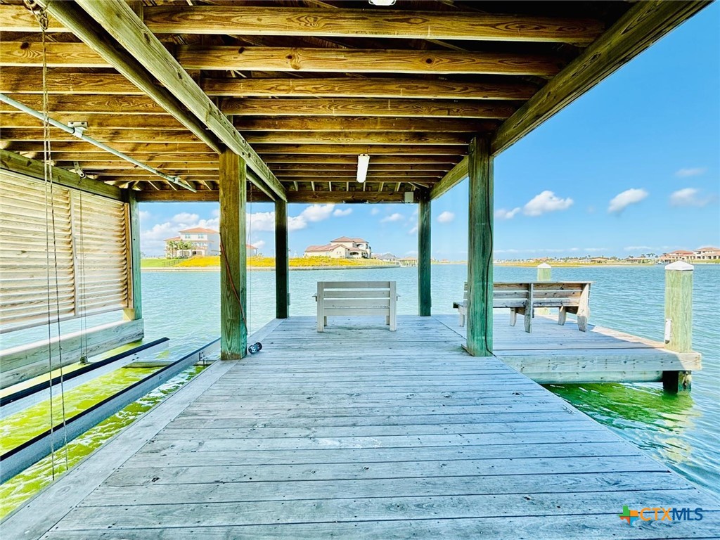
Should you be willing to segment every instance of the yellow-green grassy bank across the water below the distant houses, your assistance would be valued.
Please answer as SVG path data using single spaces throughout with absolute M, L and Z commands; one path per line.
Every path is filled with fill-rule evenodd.
M 374 258 L 330 258 L 330 257 L 296 257 L 290 258 L 290 268 L 369 268 L 388 266 L 387 262 Z M 248 257 L 248 268 L 273 269 L 274 257 Z M 192 258 L 143 258 L 140 261 L 143 269 L 196 269 L 220 268 L 220 256 Z

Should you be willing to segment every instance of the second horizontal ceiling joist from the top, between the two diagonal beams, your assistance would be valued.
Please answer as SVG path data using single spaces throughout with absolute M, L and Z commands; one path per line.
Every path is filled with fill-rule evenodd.
M 537 54 L 464 53 L 456 50 L 238 48 L 227 45 L 181 45 L 176 50 L 176 58 L 186 69 L 293 73 L 471 73 L 551 77 L 563 65 L 558 57 Z M 74 61 L 74 58 L 68 58 L 70 60 Z

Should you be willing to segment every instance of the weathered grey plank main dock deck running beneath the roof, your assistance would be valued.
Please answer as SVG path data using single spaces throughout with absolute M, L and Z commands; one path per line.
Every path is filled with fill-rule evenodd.
M 215 362 L 0 536 L 720 536 L 714 495 L 503 361 L 469 356 L 442 319 L 402 316 L 397 332 L 331 319 L 324 333 L 314 318 L 276 320 L 260 354 Z M 629 526 L 624 505 L 703 520 Z

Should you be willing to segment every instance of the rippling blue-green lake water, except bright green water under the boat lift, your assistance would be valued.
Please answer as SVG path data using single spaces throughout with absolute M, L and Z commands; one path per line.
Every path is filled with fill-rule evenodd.
M 467 268 L 433 265 L 433 313 L 452 313 L 462 297 Z M 496 281 L 529 281 L 536 269 L 495 267 Z M 251 331 L 274 318 L 274 272 L 248 278 Z M 665 272 L 662 266 L 554 268 L 553 279 L 592 280 L 590 322 L 662 341 Z M 143 272 L 145 337 L 167 336 L 180 354 L 216 338 L 220 328 L 218 271 Z M 418 310 L 417 269 L 345 269 L 290 272 L 291 315 L 315 315 L 312 293 L 318 281 L 394 280 L 398 313 Z M 549 388 L 577 408 L 672 467 L 720 493 L 720 265 L 697 265 L 693 290 L 693 348 L 703 354 L 703 371 L 693 373 L 689 395 L 665 395 L 660 384 L 566 384 Z M 93 323 L 112 320 L 103 315 Z M 63 332 L 77 322 L 63 323 Z M 47 337 L 39 329 L 4 336 L 3 346 Z

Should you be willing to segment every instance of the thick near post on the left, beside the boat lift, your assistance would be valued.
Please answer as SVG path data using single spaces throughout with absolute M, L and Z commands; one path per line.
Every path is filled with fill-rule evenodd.
M 220 358 L 240 359 L 248 349 L 245 204 L 246 163 L 220 154 Z

